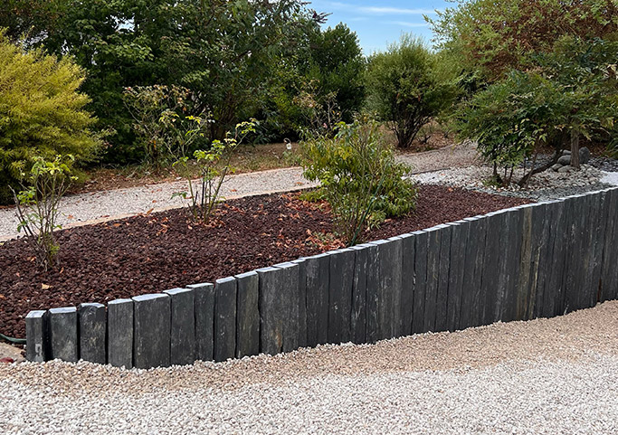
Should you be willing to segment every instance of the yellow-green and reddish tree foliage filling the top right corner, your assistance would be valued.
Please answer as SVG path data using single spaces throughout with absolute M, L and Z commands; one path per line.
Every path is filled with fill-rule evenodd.
M 618 37 L 615 0 L 458 0 L 458 7 L 429 19 L 436 42 L 468 71 L 490 81 L 526 69 L 530 57 L 552 52 L 564 35 Z

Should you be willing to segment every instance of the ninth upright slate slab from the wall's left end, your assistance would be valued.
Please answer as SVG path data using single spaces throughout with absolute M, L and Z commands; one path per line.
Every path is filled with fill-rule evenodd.
M 236 358 L 260 353 L 260 278 L 255 271 L 236 275 Z

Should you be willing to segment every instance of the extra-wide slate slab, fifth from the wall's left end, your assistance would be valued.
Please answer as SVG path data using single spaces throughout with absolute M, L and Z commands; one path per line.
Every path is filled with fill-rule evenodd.
M 138 369 L 168 367 L 172 319 L 169 296 L 136 296 L 133 310 L 133 365 Z

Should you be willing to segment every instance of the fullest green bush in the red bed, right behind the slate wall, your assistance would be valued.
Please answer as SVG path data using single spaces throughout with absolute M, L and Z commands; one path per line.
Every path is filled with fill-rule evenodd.
M 340 123 L 335 137 L 313 137 L 302 143 L 304 175 L 319 181 L 330 203 L 335 231 L 348 245 L 367 226 L 414 209 L 416 190 L 404 175 L 406 165 L 395 162 L 376 121 Z

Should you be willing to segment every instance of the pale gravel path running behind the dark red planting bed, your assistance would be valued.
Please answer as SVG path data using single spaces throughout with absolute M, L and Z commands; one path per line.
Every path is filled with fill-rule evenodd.
M 412 165 L 415 173 L 471 165 L 476 160 L 476 150 L 471 144 L 443 147 L 417 154 L 401 155 L 398 160 Z M 254 194 L 288 192 L 311 187 L 303 178 L 302 169 L 289 167 L 269 171 L 231 175 L 223 185 L 223 196 L 235 198 Z M 68 195 L 62 198 L 59 222 L 62 228 L 106 222 L 139 213 L 162 211 L 182 207 L 184 200 L 172 194 L 186 190 L 185 182 L 147 184 L 138 187 Z M 0 209 L 0 241 L 18 235 L 18 220 L 14 209 Z

